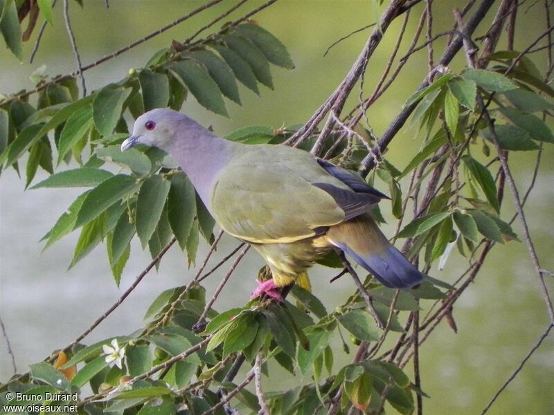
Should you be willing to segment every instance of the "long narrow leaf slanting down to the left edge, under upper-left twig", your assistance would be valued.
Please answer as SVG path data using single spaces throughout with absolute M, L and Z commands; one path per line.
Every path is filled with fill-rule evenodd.
M 89 95 L 72 104 L 65 105 L 62 109 L 57 110 L 46 124 L 32 124 L 26 127 L 0 155 L 0 165 L 4 163 L 4 161 L 6 161 L 7 165 L 12 165 L 12 163 L 24 154 L 36 140 L 44 136 L 51 129 L 62 124 L 62 122 L 66 121 L 75 111 L 89 104 L 93 97 L 94 95 Z

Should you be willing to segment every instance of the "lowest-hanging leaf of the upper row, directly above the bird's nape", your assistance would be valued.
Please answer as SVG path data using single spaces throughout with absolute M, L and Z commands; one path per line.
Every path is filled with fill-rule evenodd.
M 229 116 L 219 87 L 196 62 L 185 59 L 181 62 L 172 63 L 169 68 L 195 96 L 202 107 L 206 107 L 216 114 Z

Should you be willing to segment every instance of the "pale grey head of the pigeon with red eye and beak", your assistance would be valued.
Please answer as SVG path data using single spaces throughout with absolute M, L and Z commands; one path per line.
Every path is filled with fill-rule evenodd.
M 157 108 L 136 119 L 132 135 L 121 143 L 121 151 L 138 144 L 168 150 L 175 141 L 175 133 L 192 121 L 183 114 L 167 108 Z

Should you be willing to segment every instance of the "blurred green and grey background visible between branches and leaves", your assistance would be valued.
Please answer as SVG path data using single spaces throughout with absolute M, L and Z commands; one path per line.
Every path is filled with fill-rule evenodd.
M 111 0 L 110 8 L 106 9 L 100 0 L 84 3 L 83 10 L 71 1 L 70 12 L 85 64 L 144 37 L 202 4 L 200 1 Z M 230 19 L 239 17 L 241 10 L 249 10 L 260 3 L 247 2 L 247 6 L 233 13 Z M 304 122 L 346 75 L 366 42 L 369 31 L 353 35 L 323 57 L 325 49 L 352 30 L 375 21 L 379 10 L 374 3 L 370 0 L 277 1 L 256 15 L 255 19 L 287 46 L 296 69 L 285 71 L 273 67 L 275 90 L 262 89 L 261 98 L 242 88 L 242 107 L 226 101 L 231 116 L 229 119 L 215 116 L 200 107 L 194 98 L 188 99 L 183 111 L 206 126 L 212 125 L 222 135 L 254 124 L 277 128 L 283 124 Z M 168 46 L 172 39 L 186 39 L 232 4 L 224 1 L 163 35 L 154 37 L 150 42 L 87 71 L 89 91 L 120 80 L 129 68 L 143 66 L 156 50 Z M 533 4 L 529 5 L 531 7 L 526 12 L 525 7 L 521 8 L 516 26 L 516 48 L 526 47 L 544 30 L 542 3 Z M 435 10 L 440 8 L 442 13 L 437 11 L 434 16 L 434 30 L 437 33 L 449 30 L 452 24 L 450 10 L 464 5 L 465 1 L 435 2 Z M 422 5 L 414 11 L 419 13 L 421 10 Z M 418 13 L 411 16 L 408 33 L 413 33 Z M 366 93 L 371 91 L 371 86 L 379 79 L 399 28 L 400 19 L 388 29 L 383 44 L 370 60 L 366 71 Z M 483 35 L 484 28 L 483 24 L 476 35 Z M 36 30 L 31 42 L 26 44 L 26 58 L 30 55 L 35 37 Z M 405 40 L 400 55 L 410 40 Z M 505 44 L 506 40 L 503 39 L 499 50 Z M 443 39 L 436 42 L 436 57 L 440 56 L 443 45 Z M 537 55 L 536 58 L 537 66 L 544 68 L 544 57 Z M 75 63 L 60 6 L 55 8 L 54 26 L 46 28 L 33 64 L 17 62 L 3 45 L 0 59 L 0 92 L 6 94 L 30 88 L 32 84 L 28 76 L 42 64 L 46 64 L 46 73 L 50 75 L 73 71 Z M 463 64 L 463 59 L 458 59 L 451 68 L 456 71 Z M 427 55 L 421 51 L 410 59 L 395 86 L 370 109 L 368 120 L 377 136 L 394 118 L 426 73 Z M 357 92 L 353 93 L 350 102 L 355 102 L 357 95 Z M 418 150 L 422 138 L 415 128 L 404 127 L 388 151 L 388 160 L 403 169 Z M 544 151 L 545 161 L 539 169 L 537 186 L 526 206 L 530 232 L 539 259 L 543 268 L 549 270 L 554 270 L 552 147 L 548 145 Z M 535 156 L 535 153 L 518 153 L 510 158 L 517 183 L 522 188 L 530 183 Z M 35 181 L 42 178 L 44 175 L 37 174 Z M 23 188 L 24 181 L 12 169 L 2 173 L 0 315 L 6 325 L 20 372 L 27 370 L 27 364 L 37 362 L 53 349 L 71 342 L 116 301 L 150 261 L 148 254 L 141 251 L 139 243 L 134 243 L 132 257 L 123 273 L 119 289 L 111 278 L 105 252 L 100 247 L 66 271 L 78 234 L 71 234 L 46 252 L 41 252 L 42 245 L 38 241 L 75 196 L 80 194 L 80 190 L 41 189 L 24 192 Z M 509 193 L 505 201 L 506 209 L 502 216 L 507 220 L 514 211 Z M 391 235 L 395 221 L 390 215 L 390 205 L 384 203 L 382 211 L 388 219 L 384 230 Z M 515 230 L 521 235 L 517 223 Z M 211 264 L 215 264 L 217 258 L 223 257 L 236 243 L 231 237 L 225 237 Z M 205 243 L 202 248 L 199 259 L 207 250 Z M 218 311 L 240 306 L 247 301 L 255 288 L 253 277 L 261 265 L 261 259 L 251 252 L 216 303 Z M 464 269 L 465 259 L 454 252 L 445 270 L 433 268 L 430 274 L 454 282 Z M 141 326 L 145 309 L 161 291 L 188 282 L 194 272 L 193 269 L 187 269 L 184 255 L 177 248 L 172 248 L 164 257 L 159 272 L 148 275 L 123 306 L 87 338 L 87 342 L 106 338 L 112 333 L 134 331 Z M 222 273 L 224 270 L 208 279 L 208 294 L 213 292 Z M 328 310 L 344 302 L 353 290 L 353 284 L 347 278 L 339 279 L 329 286 L 328 280 L 334 276 L 334 270 L 318 268 L 311 274 L 314 293 L 322 299 Z M 548 279 L 548 286 L 553 289 L 552 278 Z M 537 277 L 522 243 L 510 242 L 506 246 L 494 248 L 475 283 L 456 302 L 454 317 L 458 325 L 457 334 L 441 324 L 421 348 L 422 389 L 431 396 L 431 399 L 424 400 L 427 414 L 480 413 L 548 324 Z M 0 379 L 7 380 L 12 374 L 12 367 L 3 339 L 0 353 Z M 335 360 L 335 368 L 351 359 L 352 356 L 346 356 L 343 362 Z M 272 372 L 271 389 L 291 386 L 285 376 L 275 376 L 279 373 L 278 369 Z M 300 375 L 296 380 L 303 381 Z M 500 396 L 490 413 L 553 414 L 553 385 L 554 337 L 551 335 Z

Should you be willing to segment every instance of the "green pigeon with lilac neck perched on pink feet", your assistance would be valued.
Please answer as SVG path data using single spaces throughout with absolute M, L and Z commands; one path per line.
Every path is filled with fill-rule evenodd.
M 217 136 L 172 109 L 136 118 L 121 151 L 166 151 L 227 233 L 265 259 L 272 278 L 252 297 L 282 300 L 281 288 L 310 290 L 307 269 L 336 250 L 388 288 L 413 288 L 424 275 L 379 230 L 370 210 L 388 196 L 361 177 L 286 145 L 243 144 Z

